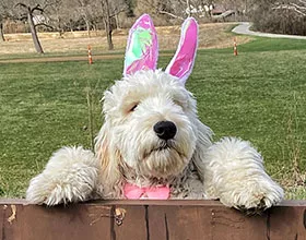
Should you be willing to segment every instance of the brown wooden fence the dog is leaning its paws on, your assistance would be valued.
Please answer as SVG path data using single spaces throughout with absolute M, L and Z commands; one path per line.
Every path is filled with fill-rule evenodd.
M 99 201 L 35 206 L 0 200 L 1 240 L 306 240 L 306 202 L 245 216 L 216 201 Z

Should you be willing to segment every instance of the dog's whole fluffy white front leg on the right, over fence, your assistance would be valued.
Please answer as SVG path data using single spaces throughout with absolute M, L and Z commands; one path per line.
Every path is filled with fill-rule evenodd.
M 210 199 L 239 209 L 266 209 L 283 190 L 264 171 L 262 157 L 248 142 L 225 137 L 204 157 L 204 189 Z

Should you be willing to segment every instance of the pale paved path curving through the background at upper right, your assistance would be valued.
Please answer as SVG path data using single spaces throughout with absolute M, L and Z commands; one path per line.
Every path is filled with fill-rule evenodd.
M 254 31 L 249 29 L 250 26 L 251 26 L 250 23 L 242 22 L 242 23 L 239 23 L 238 26 L 234 27 L 234 29 L 232 29 L 232 32 L 236 33 L 236 34 L 245 34 L 245 35 L 260 36 L 260 37 L 306 39 L 306 36 L 267 34 L 267 33 L 254 32 Z

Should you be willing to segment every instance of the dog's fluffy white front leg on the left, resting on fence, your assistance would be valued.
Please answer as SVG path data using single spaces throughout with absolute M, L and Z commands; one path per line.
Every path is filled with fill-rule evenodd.
M 31 180 L 26 200 L 47 205 L 85 201 L 95 188 L 97 169 L 91 151 L 61 148 L 52 155 L 45 170 Z

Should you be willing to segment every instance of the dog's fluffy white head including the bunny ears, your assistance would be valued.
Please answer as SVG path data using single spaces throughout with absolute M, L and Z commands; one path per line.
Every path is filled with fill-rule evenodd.
M 187 19 L 175 57 L 156 70 L 157 38 L 149 15 L 130 31 L 123 77 L 105 92 L 105 123 L 96 140 L 104 181 L 167 179 L 184 171 L 208 140 L 196 100 L 185 88 L 197 49 L 198 25 Z M 203 133 L 204 131 L 204 133 Z M 117 182 L 117 183 L 116 183 Z

